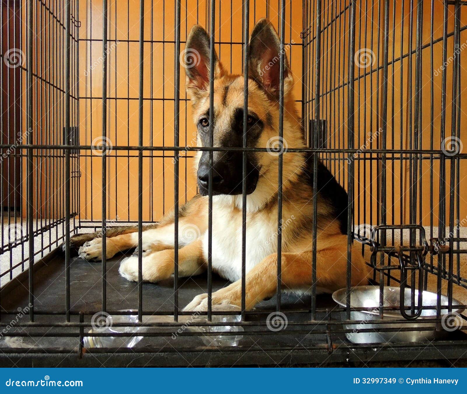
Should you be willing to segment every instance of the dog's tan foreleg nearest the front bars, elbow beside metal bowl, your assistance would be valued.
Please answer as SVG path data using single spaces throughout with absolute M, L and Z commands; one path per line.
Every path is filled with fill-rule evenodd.
M 317 283 L 328 291 L 338 290 L 347 282 L 347 237 L 340 236 L 338 243 L 317 251 Z M 282 287 L 300 292 L 311 291 L 312 252 L 283 253 L 281 263 Z M 369 268 L 357 248 L 352 250 L 352 286 L 368 285 Z M 253 308 L 258 302 L 276 293 L 277 254 L 272 254 L 258 263 L 246 276 L 246 308 Z M 212 293 L 212 304 L 241 306 L 241 280 Z M 196 296 L 185 311 L 206 311 L 207 294 Z

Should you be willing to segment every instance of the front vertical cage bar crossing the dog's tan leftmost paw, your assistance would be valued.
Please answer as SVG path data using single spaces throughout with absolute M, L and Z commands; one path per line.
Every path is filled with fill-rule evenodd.
M 102 1 L 102 312 L 107 309 L 107 0 Z

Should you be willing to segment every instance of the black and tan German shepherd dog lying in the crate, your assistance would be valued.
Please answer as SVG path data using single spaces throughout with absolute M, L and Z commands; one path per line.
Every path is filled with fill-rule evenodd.
M 271 23 L 259 21 L 249 43 L 248 147 L 268 147 L 278 138 L 281 46 Z M 209 146 L 209 70 L 214 62 L 215 147 L 241 147 L 243 136 L 244 76 L 226 72 L 217 54 L 209 56 L 209 36 L 194 26 L 186 43 L 186 89 L 198 127 L 198 146 Z M 193 56 L 196 54 L 196 57 Z M 285 54 L 284 54 L 285 56 Z M 291 93 L 293 80 L 287 58 L 283 75 L 283 139 L 304 148 L 304 132 Z M 180 207 L 178 275 L 198 275 L 207 268 L 209 153 L 198 152 L 195 168 L 199 194 Z M 278 155 L 248 152 L 246 307 L 273 296 L 277 283 L 277 177 Z M 318 161 L 317 290 L 333 292 L 347 280 L 347 193 Z M 242 152 L 213 152 L 212 165 L 212 270 L 232 281 L 212 293 L 212 305 L 241 306 Z M 312 285 L 313 153 L 283 154 L 282 273 L 284 291 L 304 293 Z M 187 235 L 189 233 L 189 235 Z M 193 236 L 195 234 L 195 236 Z M 106 256 L 138 245 L 137 227 L 111 227 Z M 100 260 L 99 233 L 78 234 L 72 247 L 86 260 Z M 143 228 L 142 278 L 157 282 L 174 273 L 174 213 Z M 366 285 L 369 268 L 357 248 L 352 250 L 352 285 Z M 138 257 L 120 263 L 120 275 L 138 280 Z M 195 297 L 186 311 L 206 311 L 207 294 Z

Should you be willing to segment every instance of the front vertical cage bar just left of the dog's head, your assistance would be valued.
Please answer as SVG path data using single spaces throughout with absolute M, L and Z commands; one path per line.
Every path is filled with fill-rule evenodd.
M 180 0 L 175 9 L 175 103 L 174 103 L 174 146 L 179 144 L 180 134 Z M 178 321 L 178 151 L 174 151 L 174 320 Z

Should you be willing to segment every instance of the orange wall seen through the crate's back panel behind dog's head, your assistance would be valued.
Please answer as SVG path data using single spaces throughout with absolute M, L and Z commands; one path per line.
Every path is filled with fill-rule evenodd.
M 87 3 L 87 4 L 86 4 Z M 153 8 L 151 10 L 151 3 Z M 181 38 L 186 40 L 187 31 L 193 24 L 206 26 L 206 2 L 189 1 L 182 4 Z M 108 1 L 108 37 L 121 40 L 118 44 L 109 41 L 108 85 L 109 100 L 107 115 L 107 137 L 111 144 L 138 144 L 138 87 L 139 87 L 139 1 Z M 165 8 L 163 8 L 165 4 Z M 278 25 L 276 1 L 250 2 L 250 30 L 255 21 L 268 14 Z M 266 11 L 266 5 L 269 10 Z M 188 6 L 188 7 L 186 7 Z M 173 146 L 174 144 L 174 2 L 149 1 L 144 3 L 144 92 L 143 144 L 152 146 Z M 301 44 L 302 1 L 287 2 L 286 20 L 292 18 L 292 25 L 286 28 L 286 42 Z M 82 1 L 80 7 L 81 38 L 102 40 L 102 1 Z M 216 2 L 216 41 L 220 60 L 232 73 L 241 73 L 242 58 L 242 1 Z M 130 43 L 126 41 L 132 41 Z M 235 44 L 230 44 L 235 43 Z M 112 46 L 113 45 L 113 46 Z M 181 44 L 181 51 L 184 43 Z M 102 95 L 102 42 L 82 41 L 80 44 L 80 95 L 101 97 Z M 151 56 L 152 53 L 152 56 Z M 301 97 L 302 47 L 291 46 L 287 52 L 291 58 L 292 70 L 297 81 L 295 93 Z M 92 70 L 90 66 L 97 64 Z M 191 121 L 191 108 L 186 102 L 184 70 L 180 71 L 180 145 L 195 146 L 196 131 Z M 86 77 L 87 74 L 87 77 Z M 114 100 L 114 97 L 130 97 L 131 100 Z M 136 100 L 135 100 L 136 99 Z M 165 99 L 165 100 L 162 100 Z M 187 105 L 188 104 L 188 105 Z M 297 106 L 298 108 L 299 106 Z M 102 136 L 102 100 L 82 99 L 80 101 L 81 143 L 90 144 Z M 183 152 L 182 152 L 183 153 Z M 81 218 L 101 218 L 102 159 L 86 152 L 81 158 Z M 112 151 L 107 159 L 107 218 L 120 220 L 137 219 L 138 159 L 127 158 L 127 151 Z M 129 152 L 137 156 L 137 152 Z M 143 219 L 158 220 L 170 210 L 174 201 L 173 152 L 145 152 L 143 159 Z M 188 156 L 192 156 L 189 153 Z M 180 203 L 196 193 L 192 159 L 180 160 Z

